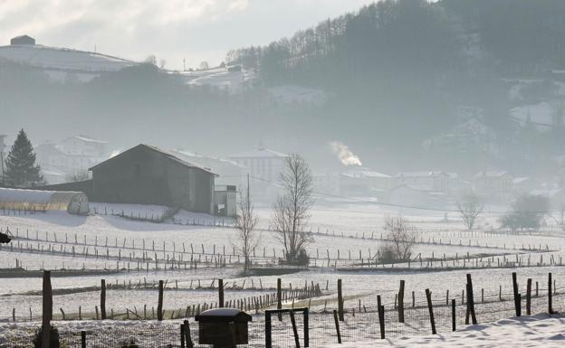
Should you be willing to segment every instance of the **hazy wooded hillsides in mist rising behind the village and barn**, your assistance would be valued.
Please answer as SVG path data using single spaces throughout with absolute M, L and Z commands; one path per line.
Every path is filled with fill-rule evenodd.
M 385 173 L 552 174 L 565 142 L 563 11 L 560 1 L 380 2 L 227 52 L 254 76 L 235 93 L 150 63 L 84 82 L 2 60 L 2 132 L 213 155 L 264 144 L 322 170 L 349 146 L 346 161 Z

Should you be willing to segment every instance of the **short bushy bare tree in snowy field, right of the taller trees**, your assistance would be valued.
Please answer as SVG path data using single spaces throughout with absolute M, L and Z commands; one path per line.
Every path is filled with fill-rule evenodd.
M 395 261 L 409 259 L 416 239 L 406 219 L 402 216 L 388 216 L 385 219 L 384 230 L 387 233 L 388 243 L 379 249 L 381 258 Z

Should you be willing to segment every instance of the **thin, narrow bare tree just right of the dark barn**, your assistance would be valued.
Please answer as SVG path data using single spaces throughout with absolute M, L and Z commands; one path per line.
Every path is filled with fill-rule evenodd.
M 251 253 L 259 243 L 260 236 L 255 230 L 259 219 L 254 212 L 254 205 L 251 202 L 249 177 L 247 178 L 246 193 L 241 194 L 238 208 L 239 214 L 237 215 L 237 249 L 244 255 L 244 272 L 247 272 L 251 266 Z

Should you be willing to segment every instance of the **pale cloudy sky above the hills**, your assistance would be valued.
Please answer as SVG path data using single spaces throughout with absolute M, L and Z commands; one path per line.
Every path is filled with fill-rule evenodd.
M 117 55 L 149 54 L 168 69 L 216 64 L 232 48 L 265 44 L 374 0 L 0 0 L 0 45 L 37 43 Z

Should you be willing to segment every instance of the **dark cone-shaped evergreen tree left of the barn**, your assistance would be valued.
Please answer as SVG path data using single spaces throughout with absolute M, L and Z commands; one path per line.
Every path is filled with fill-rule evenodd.
M 43 183 L 39 172 L 39 165 L 35 165 L 34 147 L 22 129 L 6 158 L 6 182 L 16 187 Z

